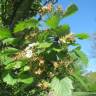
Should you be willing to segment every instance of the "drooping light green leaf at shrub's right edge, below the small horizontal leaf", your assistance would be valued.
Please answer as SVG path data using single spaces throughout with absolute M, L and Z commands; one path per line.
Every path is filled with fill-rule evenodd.
M 75 54 L 80 58 L 83 64 L 88 64 L 88 57 L 86 56 L 84 52 L 77 49 L 75 50 Z

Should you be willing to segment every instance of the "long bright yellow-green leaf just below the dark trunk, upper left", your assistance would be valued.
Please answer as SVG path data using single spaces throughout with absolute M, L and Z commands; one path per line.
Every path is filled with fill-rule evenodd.
M 14 28 L 14 33 L 23 31 L 24 29 L 30 29 L 30 28 L 35 28 L 38 24 L 38 21 L 34 18 L 26 19 L 24 21 L 19 22 L 15 28 Z

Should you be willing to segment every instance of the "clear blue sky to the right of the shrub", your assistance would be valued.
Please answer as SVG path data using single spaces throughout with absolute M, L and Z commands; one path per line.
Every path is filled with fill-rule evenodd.
M 69 24 L 73 33 L 86 32 L 92 34 L 96 32 L 96 0 L 58 0 L 59 4 L 65 9 L 69 4 L 75 3 L 79 10 L 73 16 L 67 17 L 61 21 L 61 24 Z M 88 71 L 96 70 L 96 60 L 91 58 L 92 41 L 79 41 L 82 45 L 82 50 L 89 57 Z

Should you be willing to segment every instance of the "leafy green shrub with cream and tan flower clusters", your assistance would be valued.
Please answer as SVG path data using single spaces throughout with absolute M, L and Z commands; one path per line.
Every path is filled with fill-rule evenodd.
M 4 84 L 6 85 L 5 91 L 7 91 L 6 88 L 11 90 L 6 94 L 8 96 L 50 96 L 50 94 L 53 94 L 52 96 L 72 96 L 77 94 L 74 90 L 78 91 L 76 87 L 80 84 L 79 89 L 86 90 L 83 78 L 79 77 L 81 70 L 77 71 L 75 66 L 80 64 L 78 65 L 80 67 L 88 63 L 87 56 L 76 43 L 76 39 L 87 39 L 88 35 L 85 33 L 72 34 L 69 25 L 60 25 L 64 17 L 78 10 L 77 6 L 71 4 L 65 11 L 59 7 L 55 10 L 52 4 L 49 7 L 48 5 L 42 6 L 41 1 L 38 5 L 34 0 L 31 7 L 36 12 L 30 15 L 32 18 L 28 15 L 25 19 L 24 14 L 20 16 L 18 12 L 22 10 L 22 12 L 29 13 L 30 6 L 26 4 L 27 9 L 24 8 L 25 1 L 19 2 L 21 6 L 15 12 L 15 17 L 11 22 L 14 23 L 13 28 L 10 28 L 8 22 L 12 13 L 10 15 L 5 12 L 6 24 L 1 15 L 0 84 L 3 87 Z M 29 4 L 31 1 L 26 2 Z M 12 10 L 14 11 L 14 8 Z M 0 11 L 2 13 L 4 10 Z M 33 17 L 36 13 L 41 19 Z M 46 18 L 46 14 L 50 16 L 43 21 L 42 18 Z M 40 29 L 41 22 L 46 25 L 47 29 Z M 70 46 L 74 47 L 71 51 Z M 4 94 L 4 90 L 1 90 L 0 95 Z

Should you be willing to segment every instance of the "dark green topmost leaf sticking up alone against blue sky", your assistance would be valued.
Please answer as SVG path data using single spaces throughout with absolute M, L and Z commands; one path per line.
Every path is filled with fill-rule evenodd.
M 75 4 L 71 4 L 64 12 L 63 17 L 73 15 L 78 10 L 78 7 Z

